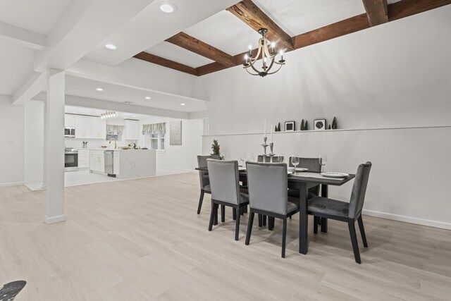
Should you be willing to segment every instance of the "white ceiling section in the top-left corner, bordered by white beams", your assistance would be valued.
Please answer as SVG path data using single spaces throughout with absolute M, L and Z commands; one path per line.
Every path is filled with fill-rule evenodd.
M 70 0 L 1 0 L 0 20 L 47 35 Z

